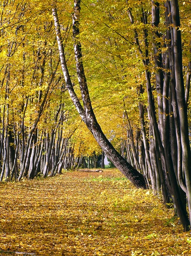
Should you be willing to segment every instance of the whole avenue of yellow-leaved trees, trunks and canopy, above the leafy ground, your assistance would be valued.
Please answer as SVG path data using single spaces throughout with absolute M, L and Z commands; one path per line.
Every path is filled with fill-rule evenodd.
M 0 10 L 0 180 L 96 167 L 104 151 L 188 230 L 191 2 L 6 0 Z

